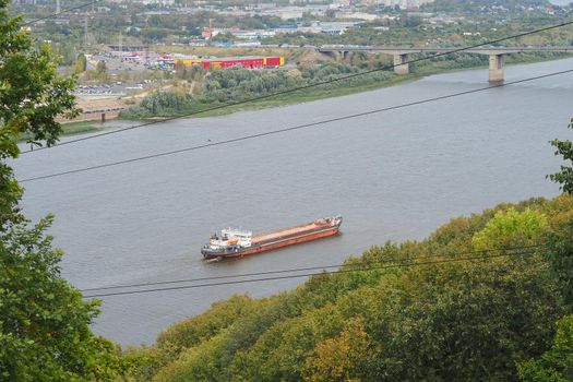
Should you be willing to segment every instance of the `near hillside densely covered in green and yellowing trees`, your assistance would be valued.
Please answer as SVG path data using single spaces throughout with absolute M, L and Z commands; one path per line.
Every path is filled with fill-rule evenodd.
M 129 379 L 518 380 L 572 313 L 572 222 L 573 198 L 535 199 L 372 247 L 343 267 L 357 272 L 235 296 L 175 324 L 126 351 Z

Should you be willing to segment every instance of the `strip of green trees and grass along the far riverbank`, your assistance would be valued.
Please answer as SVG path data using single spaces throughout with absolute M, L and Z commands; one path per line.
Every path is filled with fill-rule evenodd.
M 506 64 L 542 62 L 571 57 L 564 53 L 537 53 L 508 56 Z M 363 57 L 362 57 L 363 59 Z M 487 56 L 454 55 L 440 57 L 410 64 L 410 74 L 397 75 L 391 70 L 333 81 L 303 91 L 272 96 L 273 93 L 289 91 L 294 87 L 312 85 L 318 82 L 336 80 L 387 65 L 389 62 L 359 62 L 359 64 L 324 62 L 291 71 L 251 71 L 246 69 L 219 70 L 206 72 L 199 68 L 180 68 L 178 75 L 181 86 L 175 91 L 155 92 L 142 99 L 138 106 L 123 110 L 120 119 L 158 120 L 164 118 L 186 117 L 204 118 L 229 115 L 237 111 L 258 110 L 280 107 L 312 100 L 346 96 L 373 89 L 395 86 L 416 81 L 429 75 L 451 73 L 462 70 L 487 68 Z M 373 68 L 372 68 L 373 67 Z M 484 79 L 485 84 L 487 79 Z M 268 96 L 261 100 L 248 102 L 258 96 Z M 235 103 L 242 103 L 234 105 Z M 228 106 L 226 106 L 228 105 Z M 217 108 L 220 107 L 220 108 Z M 215 110 L 210 110 L 216 108 Z M 202 111 L 205 110 L 205 111 Z

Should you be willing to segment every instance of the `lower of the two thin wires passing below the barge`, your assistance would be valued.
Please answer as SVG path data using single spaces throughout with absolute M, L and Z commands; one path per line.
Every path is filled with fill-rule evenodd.
M 494 254 L 494 255 L 487 255 L 487 256 L 444 259 L 444 260 L 434 260 L 434 261 L 426 261 L 426 262 L 417 262 L 417 263 L 405 263 L 405 264 L 392 264 L 392 265 L 383 265 L 383 266 L 371 266 L 371 267 L 363 267 L 363 268 L 357 268 L 357 270 L 338 270 L 338 271 L 333 271 L 333 272 L 329 272 L 329 273 L 323 273 L 323 272 L 317 273 L 317 272 L 313 272 L 313 273 L 297 274 L 297 275 L 286 275 L 286 276 L 274 276 L 274 277 L 263 277 L 263 278 L 240 279 L 240 280 L 231 280 L 231 282 L 218 282 L 218 283 L 184 285 L 184 286 L 175 286 L 175 287 L 167 287 L 167 288 L 150 288 L 150 289 L 128 290 L 128 291 L 112 291 L 112 293 L 103 293 L 103 294 L 87 295 L 87 296 L 84 296 L 84 298 L 124 296 L 124 295 L 139 295 L 139 294 L 156 293 L 156 291 L 182 290 L 182 289 L 194 289 L 194 288 L 204 288 L 204 287 L 213 287 L 213 286 L 222 286 L 222 285 L 258 283 L 258 282 L 268 282 L 268 280 L 288 279 L 288 278 L 301 278 L 301 277 L 308 277 L 308 276 L 317 276 L 317 275 L 321 275 L 321 274 L 333 275 L 333 274 L 351 273 L 351 272 L 387 270 L 387 268 L 395 268 L 395 267 L 399 268 L 399 267 L 411 267 L 411 266 L 422 266 L 422 265 L 445 264 L 445 263 L 455 263 L 455 262 L 464 262 L 464 261 L 473 261 L 473 260 L 488 260 L 488 259 L 498 259 L 498 258 L 508 258 L 508 256 L 526 256 L 526 255 L 530 255 L 530 254 L 536 254 L 536 252 L 535 251 L 524 251 L 524 252 L 513 252 L 513 253 Z

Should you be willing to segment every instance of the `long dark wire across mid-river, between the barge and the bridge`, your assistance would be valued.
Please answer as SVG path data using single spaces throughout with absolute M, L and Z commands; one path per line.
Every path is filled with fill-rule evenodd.
M 443 95 L 443 96 L 426 98 L 426 99 L 416 100 L 416 102 L 402 104 L 402 105 L 397 105 L 397 106 L 390 106 L 390 107 L 384 107 L 384 108 L 380 108 L 380 109 L 373 109 L 373 110 L 369 110 L 369 111 L 347 115 L 347 116 L 343 116 L 343 117 L 325 119 L 325 120 L 318 121 L 318 122 L 303 123 L 303 124 L 298 124 L 298 126 L 294 126 L 294 127 L 289 127 L 289 128 L 285 128 L 285 129 L 278 129 L 278 130 L 265 131 L 265 132 L 262 132 L 262 133 L 243 135 L 243 136 L 234 138 L 234 139 L 230 139 L 230 140 L 225 140 L 225 141 L 211 142 L 211 143 L 200 144 L 200 145 L 196 145 L 196 146 L 190 146 L 190 147 L 174 150 L 174 151 L 169 151 L 169 152 L 151 154 L 151 155 L 140 156 L 140 157 L 130 158 L 130 159 L 117 160 L 117 162 L 111 162 L 111 163 L 102 164 L 102 165 L 95 165 L 95 166 L 83 167 L 83 168 L 77 168 L 77 169 L 73 169 L 73 170 L 67 170 L 67 171 L 61 171 L 61 172 L 53 172 L 53 174 L 49 174 L 49 175 L 43 175 L 43 176 L 26 178 L 26 179 L 21 180 L 21 182 L 32 182 L 32 181 L 41 180 L 41 179 L 49 179 L 49 178 L 61 177 L 61 176 L 64 176 L 64 175 L 85 172 L 85 171 L 91 171 L 91 170 L 106 168 L 106 167 L 119 166 L 119 165 L 124 165 L 124 164 L 140 162 L 140 160 L 147 160 L 147 159 L 158 158 L 158 157 L 163 157 L 163 156 L 169 156 L 169 155 L 181 154 L 181 153 L 192 152 L 192 151 L 207 148 L 207 147 L 225 145 L 225 144 L 229 144 L 229 143 L 236 143 L 236 142 L 242 142 L 242 141 L 248 141 L 248 140 L 252 140 L 252 139 L 268 136 L 268 135 L 282 134 L 282 133 L 286 133 L 286 132 L 290 132 L 290 131 L 295 131 L 295 130 L 309 129 L 309 128 L 324 126 L 326 123 L 332 123 L 332 122 L 336 122 L 336 121 L 343 121 L 343 120 L 347 120 L 347 119 L 370 116 L 370 115 L 374 115 L 374 114 L 379 114 L 379 112 L 383 112 L 383 111 L 396 110 L 396 109 L 402 109 L 402 108 L 406 108 L 406 107 L 410 107 L 410 106 L 428 104 L 428 103 L 432 103 L 432 102 L 437 102 L 437 100 L 442 100 L 442 99 L 458 97 L 458 96 L 463 96 L 463 95 L 479 93 L 479 92 L 489 91 L 489 89 L 492 89 L 492 88 L 504 87 L 504 86 L 509 86 L 509 85 L 515 85 L 515 84 L 520 84 L 520 83 L 524 83 L 524 82 L 546 79 L 546 77 L 550 77 L 550 76 L 554 76 L 554 75 L 571 73 L 571 72 L 573 72 L 573 69 L 563 70 L 563 71 L 560 71 L 560 72 L 553 72 L 553 73 L 549 73 L 549 74 L 537 75 L 537 76 L 528 77 L 528 79 L 524 79 L 524 80 L 516 80 L 516 81 L 506 82 L 506 83 L 503 83 L 503 84 L 480 87 L 480 88 L 476 88 L 476 89 L 471 89 L 471 91 L 464 91 L 464 92 L 452 93 L 452 94 L 447 94 L 447 95 Z

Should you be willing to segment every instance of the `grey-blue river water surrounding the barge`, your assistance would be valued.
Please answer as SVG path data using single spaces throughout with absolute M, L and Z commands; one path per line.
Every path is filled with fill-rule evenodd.
M 506 81 L 557 72 L 573 59 L 506 68 Z M 228 140 L 487 86 L 487 71 L 433 75 L 380 91 L 217 118 L 176 120 L 23 155 L 19 178 Z M 571 138 L 573 75 L 489 89 L 312 129 L 25 183 L 24 211 L 56 215 L 63 275 L 81 289 L 338 264 L 386 240 L 421 239 L 456 215 L 553 196 Z M 343 235 L 206 263 L 216 229 L 256 231 L 342 214 Z M 232 294 L 268 296 L 303 278 L 103 299 L 94 327 L 121 344 Z

